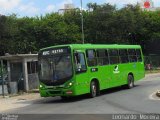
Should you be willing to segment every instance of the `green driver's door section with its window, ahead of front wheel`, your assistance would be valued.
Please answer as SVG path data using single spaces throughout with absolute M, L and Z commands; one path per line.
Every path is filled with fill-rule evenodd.
M 74 66 L 76 73 L 76 92 L 77 94 L 88 93 L 90 90 L 85 53 L 78 50 L 74 53 Z

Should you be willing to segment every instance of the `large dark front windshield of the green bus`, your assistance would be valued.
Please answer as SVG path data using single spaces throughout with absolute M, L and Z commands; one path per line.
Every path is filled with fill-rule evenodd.
M 72 72 L 71 56 L 68 54 L 42 57 L 39 60 L 41 81 L 60 82 L 70 78 Z

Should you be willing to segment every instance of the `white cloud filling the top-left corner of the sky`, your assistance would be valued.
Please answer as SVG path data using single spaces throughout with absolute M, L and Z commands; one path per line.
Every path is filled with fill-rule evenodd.
M 12 10 L 20 4 L 21 0 L 0 0 L 0 8 L 3 10 Z

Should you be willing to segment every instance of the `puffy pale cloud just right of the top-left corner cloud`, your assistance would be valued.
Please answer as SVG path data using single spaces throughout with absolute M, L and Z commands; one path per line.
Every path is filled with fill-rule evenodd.
M 21 4 L 19 6 L 19 10 L 21 12 L 25 12 L 27 14 L 36 14 L 39 12 L 39 8 L 35 7 L 34 3 L 33 2 L 30 2 L 28 4 Z

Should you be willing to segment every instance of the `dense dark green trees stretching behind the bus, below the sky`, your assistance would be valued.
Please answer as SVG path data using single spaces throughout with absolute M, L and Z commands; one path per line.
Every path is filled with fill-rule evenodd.
M 160 11 L 142 11 L 138 5 L 122 9 L 88 3 L 83 10 L 85 43 L 143 44 L 160 39 Z M 36 53 L 58 44 L 82 43 L 81 10 L 39 17 L 0 16 L 0 55 Z

